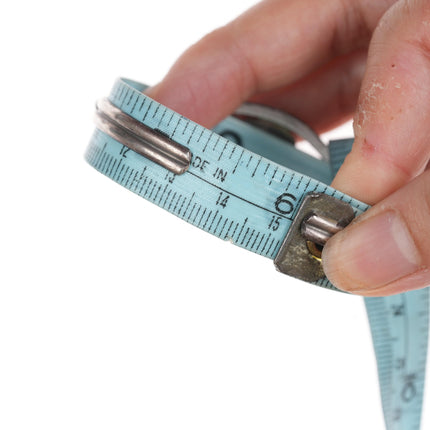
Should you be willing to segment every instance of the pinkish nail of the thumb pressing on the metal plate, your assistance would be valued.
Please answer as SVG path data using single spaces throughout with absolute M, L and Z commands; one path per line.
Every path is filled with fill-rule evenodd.
M 358 221 L 331 238 L 323 249 L 327 278 L 351 293 L 371 293 L 416 272 L 420 254 L 395 211 Z

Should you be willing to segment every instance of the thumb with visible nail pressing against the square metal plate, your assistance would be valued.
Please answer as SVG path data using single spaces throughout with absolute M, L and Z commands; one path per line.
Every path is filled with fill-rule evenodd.
M 338 288 L 385 296 L 430 284 L 430 171 L 334 235 L 324 271 Z

